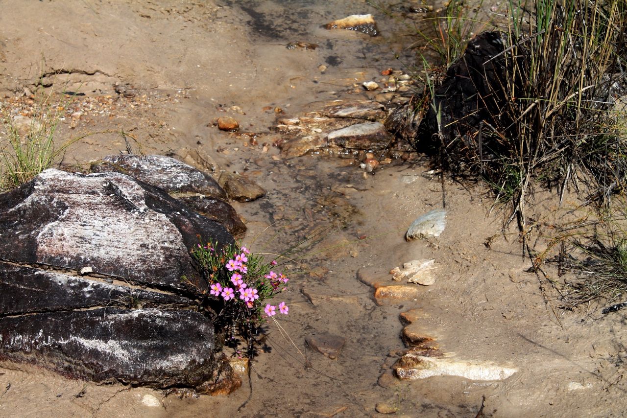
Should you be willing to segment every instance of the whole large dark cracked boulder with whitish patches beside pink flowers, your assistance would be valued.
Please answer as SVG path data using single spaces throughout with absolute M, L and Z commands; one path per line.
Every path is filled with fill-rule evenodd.
M 0 358 L 97 382 L 235 389 L 196 310 L 207 287 L 189 256 L 196 234 L 233 240 L 119 173 L 49 169 L 0 195 Z

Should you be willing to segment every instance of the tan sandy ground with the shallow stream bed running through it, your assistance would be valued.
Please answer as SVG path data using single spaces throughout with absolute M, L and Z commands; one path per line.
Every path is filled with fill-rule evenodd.
M 372 97 L 354 84 L 399 68 L 394 53 L 411 59 L 401 49 L 398 23 L 366 3 L 312 3 L 0 2 L 0 97 L 9 107 L 28 102 L 16 99 L 24 87 L 34 91 L 39 80 L 55 81 L 85 94 L 66 105 L 67 137 L 124 130 L 144 152 L 198 149 L 222 169 L 245 173 L 268 191 L 258 201 L 233 203 L 246 219 L 243 242 L 253 251 L 280 252 L 320 227 L 334 231 L 303 251 L 311 273 L 293 277 L 284 294 L 291 308 L 281 324 L 303 356 L 270 324 L 267 347 L 253 364 L 252 399 L 240 412 L 247 382 L 228 397 L 166 396 L 3 363 L 0 416 L 353 417 L 379 415 L 375 405 L 387 402 L 407 417 L 475 417 L 484 396 L 484 416 L 627 412 L 622 313 L 603 316 L 599 306 L 559 310 L 550 286 L 525 272 L 529 260 L 515 234 L 486 248 L 502 217 L 488 215 L 492 201 L 482 189 L 445 180 L 445 232 L 408 243 L 409 224 L 442 207 L 440 178 L 429 174 L 426 162 L 395 162 L 364 174 L 353 159 L 284 160 L 271 146 L 263 152 L 264 143 L 278 138 L 269 129 L 275 108 L 298 115 L 311 102 Z M 383 36 L 320 28 L 354 13 L 375 14 Z M 319 48 L 286 49 L 292 41 Z M 220 132 L 214 122 L 221 115 L 237 118 L 258 144 Z M 124 149 L 119 133 L 94 133 L 71 148 L 65 163 L 81 165 Z M 559 218 L 551 199 L 540 205 Z M 357 280 L 359 269 L 389 280 L 394 266 L 426 258 L 441 269 L 416 300 L 377 306 L 373 290 Z M 398 315 L 410 309 L 421 311 L 421 330 L 451 358 L 518 372 L 496 382 L 430 377 L 377 384 L 396 360 L 388 353 L 403 347 Z M 316 332 L 347 339 L 337 360 L 305 347 L 304 338 Z

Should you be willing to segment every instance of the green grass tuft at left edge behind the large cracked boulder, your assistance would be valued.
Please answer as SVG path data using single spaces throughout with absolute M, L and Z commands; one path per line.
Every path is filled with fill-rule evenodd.
M 49 169 L 68 146 L 80 139 L 58 142 L 59 123 L 67 102 L 61 99 L 51 103 L 52 95 L 52 91 L 40 95 L 35 103 L 34 116 L 30 119 L 14 115 L 6 108 L 1 109 L 4 127 L 4 138 L 0 142 L 2 191 L 14 189 Z

